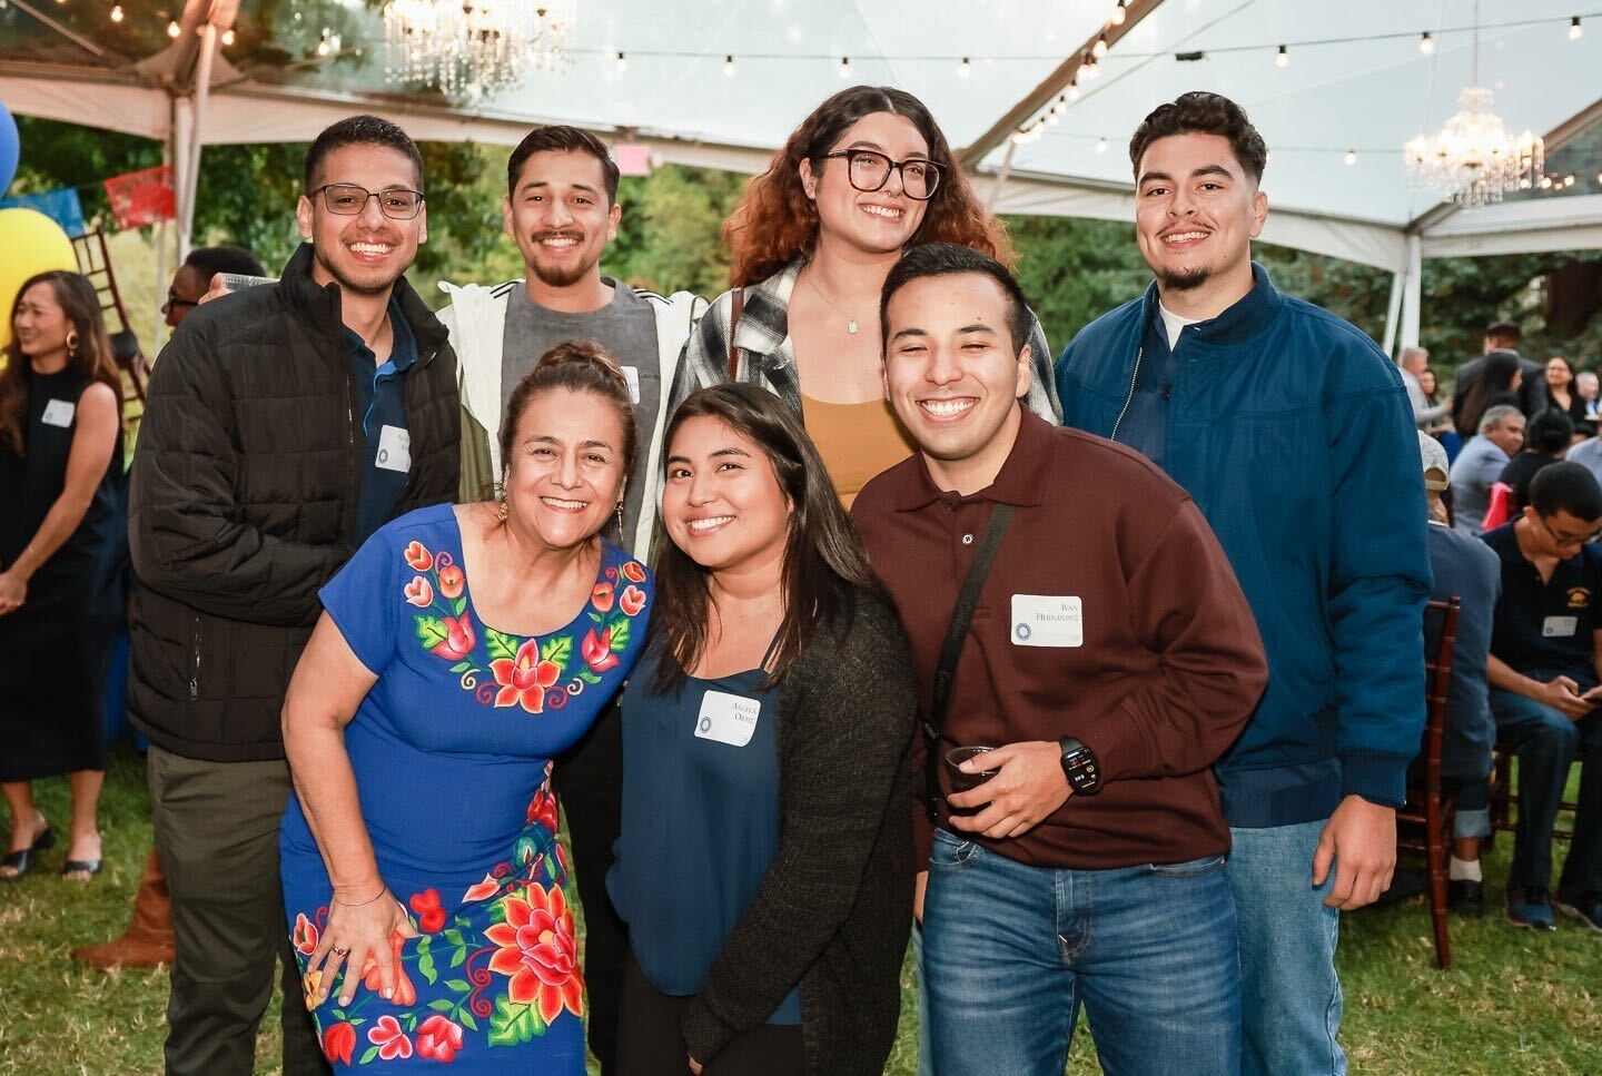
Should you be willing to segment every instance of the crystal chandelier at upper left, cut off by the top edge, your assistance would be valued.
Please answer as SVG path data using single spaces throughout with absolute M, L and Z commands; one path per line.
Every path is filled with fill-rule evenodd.
M 391 0 L 384 80 L 477 101 L 566 64 L 575 0 Z

